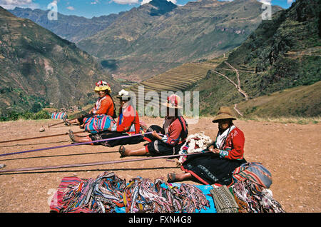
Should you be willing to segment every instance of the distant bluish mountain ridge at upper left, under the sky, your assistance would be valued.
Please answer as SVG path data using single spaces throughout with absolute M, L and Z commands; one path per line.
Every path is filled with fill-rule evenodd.
M 67 16 L 63 14 L 57 15 L 57 20 L 49 20 L 49 10 L 41 9 L 23 9 L 16 7 L 9 10 L 15 16 L 30 19 L 36 24 L 54 32 L 63 39 L 67 39 L 73 43 L 77 43 L 88 36 L 93 36 L 98 31 L 106 29 L 113 21 L 115 21 L 124 12 L 119 14 L 109 14 L 108 16 L 93 17 L 87 19 L 83 16 Z

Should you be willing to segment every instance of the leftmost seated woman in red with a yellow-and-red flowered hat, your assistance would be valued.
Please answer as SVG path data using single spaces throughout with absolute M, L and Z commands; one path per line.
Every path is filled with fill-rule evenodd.
M 98 114 L 106 114 L 108 116 L 111 116 L 112 118 L 116 118 L 115 104 L 113 103 L 113 99 L 111 98 L 111 87 L 109 86 L 109 84 L 106 81 L 98 81 L 94 91 L 98 94 L 99 98 L 96 101 L 93 109 L 91 109 L 88 114 L 71 121 L 63 118 L 63 121 L 67 126 L 70 126 L 71 123 L 77 123 L 81 126 L 81 128 L 83 128 L 84 118 L 92 118 L 93 116 L 96 116 Z

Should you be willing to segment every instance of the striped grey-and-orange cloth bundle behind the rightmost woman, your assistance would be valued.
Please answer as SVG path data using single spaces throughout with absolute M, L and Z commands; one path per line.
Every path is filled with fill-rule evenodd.
M 233 171 L 233 181 L 245 181 L 246 179 L 253 183 L 258 183 L 264 188 L 270 188 L 272 184 L 272 175 L 262 163 L 248 162 L 235 168 Z

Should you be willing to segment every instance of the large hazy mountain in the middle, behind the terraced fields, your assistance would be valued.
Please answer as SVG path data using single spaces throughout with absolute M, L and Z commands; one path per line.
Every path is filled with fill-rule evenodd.
M 280 9 L 272 6 L 272 12 Z M 77 46 L 96 56 L 115 78 L 143 81 L 239 46 L 260 24 L 263 11 L 256 0 L 201 0 L 185 6 L 153 0 L 126 11 Z

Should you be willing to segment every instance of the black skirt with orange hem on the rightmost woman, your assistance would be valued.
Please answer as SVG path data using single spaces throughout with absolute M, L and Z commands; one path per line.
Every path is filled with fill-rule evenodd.
M 244 158 L 243 160 L 230 160 L 220 158 L 215 153 L 201 153 L 188 156 L 180 168 L 191 173 L 201 183 L 229 185 L 232 183 L 233 171 L 243 163 L 246 163 Z

